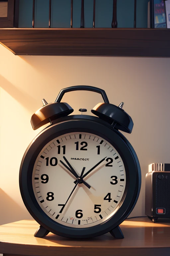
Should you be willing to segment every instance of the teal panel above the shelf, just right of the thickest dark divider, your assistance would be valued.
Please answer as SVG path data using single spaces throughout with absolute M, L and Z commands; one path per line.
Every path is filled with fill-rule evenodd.
M 142 1 L 142 0 L 139 0 Z M 133 28 L 134 26 L 134 0 L 117 1 L 118 28 Z

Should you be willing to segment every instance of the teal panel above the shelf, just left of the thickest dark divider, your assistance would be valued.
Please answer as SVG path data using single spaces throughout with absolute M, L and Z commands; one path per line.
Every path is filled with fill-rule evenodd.
M 96 28 L 111 28 L 113 0 L 96 0 Z

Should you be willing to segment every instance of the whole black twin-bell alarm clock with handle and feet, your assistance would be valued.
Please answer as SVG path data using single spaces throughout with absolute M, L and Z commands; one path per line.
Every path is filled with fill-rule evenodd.
M 100 93 L 104 103 L 91 112 L 61 102 L 66 92 Z M 90 238 L 110 232 L 124 238 L 119 225 L 137 201 L 141 172 L 125 136 L 133 121 L 104 90 L 91 86 L 62 89 L 54 103 L 33 114 L 34 130 L 48 124 L 28 146 L 20 167 L 20 191 L 26 208 L 40 224 L 36 237 L 48 232 L 68 238 Z

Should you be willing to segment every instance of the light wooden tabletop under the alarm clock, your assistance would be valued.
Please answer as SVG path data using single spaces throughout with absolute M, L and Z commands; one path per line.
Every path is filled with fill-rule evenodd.
M 69 239 L 49 233 L 36 238 L 35 220 L 21 220 L 0 226 L 0 253 L 3 256 L 170 256 L 170 222 L 152 223 L 148 218 L 124 221 L 120 227 L 124 239 L 109 233 L 93 239 Z

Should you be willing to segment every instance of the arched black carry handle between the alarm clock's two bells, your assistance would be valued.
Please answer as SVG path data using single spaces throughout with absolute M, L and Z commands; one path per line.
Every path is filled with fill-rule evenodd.
M 104 100 L 105 103 L 109 103 L 108 97 L 106 95 L 106 92 L 100 88 L 97 87 L 93 87 L 93 86 L 87 86 L 87 85 L 78 85 L 78 86 L 71 86 L 71 87 L 67 87 L 62 89 L 55 102 L 60 102 L 62 97 L 64 96 L 64 93 L 66 92 L 72 92 L 72 91 L 91 91 L 91 92 L 97 92 L 100 93 L 102 95 L 102 98 Z

